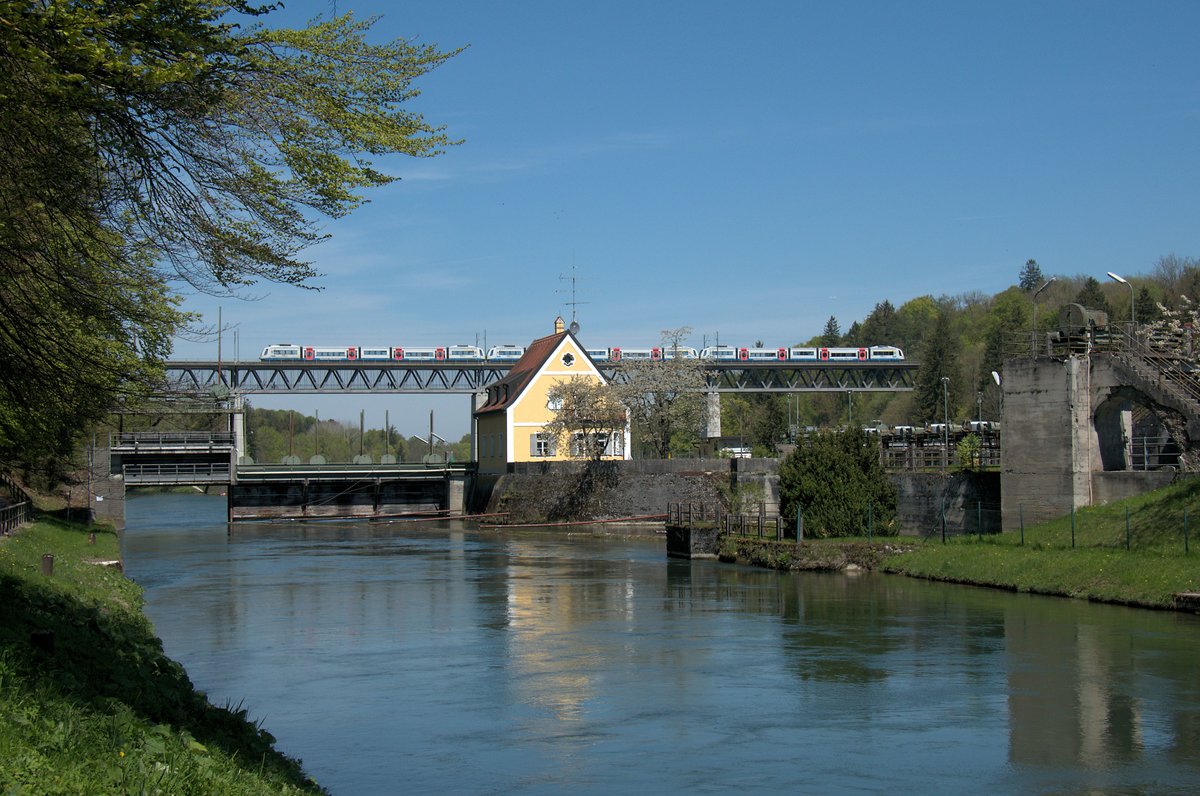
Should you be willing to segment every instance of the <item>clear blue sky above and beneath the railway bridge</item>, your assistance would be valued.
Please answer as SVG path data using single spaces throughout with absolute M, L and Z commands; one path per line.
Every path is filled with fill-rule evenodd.
M 464 143 L 380 161 L 402 179 L 310 253 L 323 291 L 190 295 L 236 324 L 242 359 L 272 342 L 528 342 L 570 318 L 572 268 L 589 346 L 683 325 L 697 346 L 782 345 L 883 299 L 1002 291 L 1028 258 L 1103 280 L 1200 255 L 1198 2 L 337 10 L 383 14 L 380 40 L 468 46 L 412 106 Z M 175 357 L 215 354 L 181 340 Z M 252 400 L 468 427 L 460 397 Z

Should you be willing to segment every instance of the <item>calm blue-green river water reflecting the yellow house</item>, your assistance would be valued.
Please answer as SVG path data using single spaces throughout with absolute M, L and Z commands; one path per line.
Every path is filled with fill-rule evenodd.
M 660 539 L 128 501 L 168 654 L 335 794 L 1200 791 L 1200 621 Z

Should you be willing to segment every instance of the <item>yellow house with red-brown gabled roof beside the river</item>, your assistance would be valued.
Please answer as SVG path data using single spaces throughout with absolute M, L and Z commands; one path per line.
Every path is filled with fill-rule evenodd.
M 479 472 L 503 473 L 511 462 L 568 461 L 570 449 L 544 432 L 554 417 L 547 394 L 551 388 L 572 377 L 584 376 L 607 383 L 583 346 L 563 319 L 554 322 L 556 333 L 534 340 L 512 369 L 487 388 L 487 399 L 475 411 L 475 445 Z M 608 439 L 602 459 L 629 459 L 629 424 Z

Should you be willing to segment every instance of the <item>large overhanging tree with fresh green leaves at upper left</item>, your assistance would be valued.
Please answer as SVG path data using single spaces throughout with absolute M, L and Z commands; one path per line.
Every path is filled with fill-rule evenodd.
M 173 283 L 304 285 L 323 219 L 449 140 L 407 109 L 454 53 L 241 0 L 0 0 L 0 462 L 48 466 L 161 378 Z M 31 355 L 30 352 L 37 352 Z

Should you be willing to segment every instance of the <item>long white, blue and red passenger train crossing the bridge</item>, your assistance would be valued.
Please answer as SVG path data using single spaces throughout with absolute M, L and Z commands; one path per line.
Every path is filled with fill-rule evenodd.
M 588 348 L 598 363 L 662 361 L 664 359 L 703 359 L 716 363 L 865 363 L 902 361 L 904 351 L 895 346 L 750 348 L 709 346 L 696 351 L 680 346 L 650 348 Z M 263 361 L 395 361 L 395 363 L 511 363 L 521 359 L 524 346 L 492 346 L 486 355 L 479 346 L 293 346 L 277 343 L 263 348 Z

